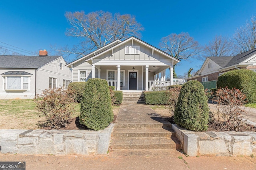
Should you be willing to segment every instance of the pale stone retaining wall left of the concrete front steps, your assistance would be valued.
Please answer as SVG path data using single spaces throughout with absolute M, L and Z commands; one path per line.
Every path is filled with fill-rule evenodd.
M 114 124 L 92 130 L 0 130 L 0 153 L 106 154 Z

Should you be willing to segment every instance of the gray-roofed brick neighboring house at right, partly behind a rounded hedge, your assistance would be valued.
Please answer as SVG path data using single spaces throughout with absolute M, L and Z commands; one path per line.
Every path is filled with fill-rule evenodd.
M 235 69 L 250 69 L 256 72 L 256 49 L 233 57 L 207 57 L 200 70 L 187 80 L 214 81 L 221 74 Z

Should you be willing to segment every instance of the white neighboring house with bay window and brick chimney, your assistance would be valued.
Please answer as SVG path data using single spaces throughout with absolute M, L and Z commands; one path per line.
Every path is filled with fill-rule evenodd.
M 71 70 L 62 56 L 0 56 L 0 99 L 32 99 L 48 88 L 67 88 Z

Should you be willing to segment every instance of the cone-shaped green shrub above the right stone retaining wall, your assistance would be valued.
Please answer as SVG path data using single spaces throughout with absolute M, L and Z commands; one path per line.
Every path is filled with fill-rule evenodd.
M 191 80 L 183 84 L 174 113 L 175 123 L 192 131 L 208 129 L 209 108 L 204 86 Z

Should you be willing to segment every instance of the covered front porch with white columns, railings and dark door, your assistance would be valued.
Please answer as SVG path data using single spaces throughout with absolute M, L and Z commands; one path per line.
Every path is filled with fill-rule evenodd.
M 170 70 L 167 71 L 166 69 Z M 173 67 L 161 63 L 158 65 L 97 65 L 92 64 L 92 78 L 108 81 L 115 90 L 165 90 L 173 84 Z M 167 80 L 168 79 L 168 80 Z

